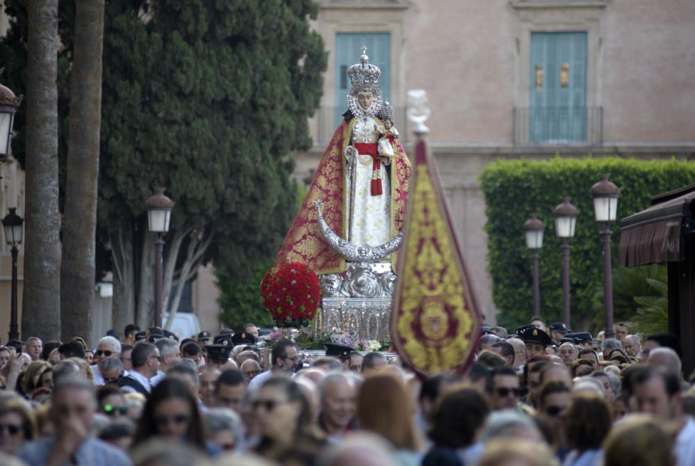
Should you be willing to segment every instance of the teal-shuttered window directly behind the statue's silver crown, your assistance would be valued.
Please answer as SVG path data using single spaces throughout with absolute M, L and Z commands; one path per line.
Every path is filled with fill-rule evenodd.
M 367 47 L 369 63 L 382 70 L 379 88 L 384 101 L 389 100 L 391 90 L 391 34 L 390 33 L 336 33 L 336 109 L 334 125 L 337 127 L 347 110 L 347 93 L 350 91 L 350 79 L 347 68 L 359 61 L 362 47 Z

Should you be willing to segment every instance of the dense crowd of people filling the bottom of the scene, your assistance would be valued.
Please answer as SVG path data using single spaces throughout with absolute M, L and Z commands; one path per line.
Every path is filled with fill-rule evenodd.
M 695 465 L 670 335 L 483 326 L 466 373 L 423 380 L 395 353 L 311 358 L 259 330 L 0 346 L 0 465 Z

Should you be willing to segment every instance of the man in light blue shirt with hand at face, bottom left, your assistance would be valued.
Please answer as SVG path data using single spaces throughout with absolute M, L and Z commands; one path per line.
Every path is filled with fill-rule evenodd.
M 125 453 L 90 435 L 96 408 L 92 383 L 64 379 L 52 394 L 50 417 L 56 433 L 24 444 L 17 456 L 27 465 L 132 465 Z

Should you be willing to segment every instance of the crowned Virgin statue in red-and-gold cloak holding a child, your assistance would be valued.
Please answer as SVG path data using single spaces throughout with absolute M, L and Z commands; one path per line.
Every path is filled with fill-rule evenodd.
M 316 201 L 328 226 L 345 241 L 376 247 L 398 235 L 405 216 L 410 162 L 379 90 L 379 67 L 366 49 L 347 70 L 347 111 L 313 176 L 276 264 L 303 262 L 320 274 L 345 271 L 345 259 L 322 236 Z M 395 270 L 397 253 L 390 260 Z

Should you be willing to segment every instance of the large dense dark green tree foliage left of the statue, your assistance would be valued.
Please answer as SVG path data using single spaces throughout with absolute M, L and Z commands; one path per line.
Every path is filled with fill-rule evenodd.
M 12 27 L 0 58 L 22 93 L 26 0 L 4 3 Z M 176 202 L 165 290 L 195 275 L 195 265 L 181 274 L 186 263 L 214 260 L 244 278 L 277 251 L 295 211 L 288 153 L 309 146 L 307 118 L 326 67 L 309 28 L 317 13 L 313 0 L 106 2 L 98 228 L 113 252 L 115 326 L 124 323 L 122 307 L 127 320 L 137 307 L 138 321 L 149 323 L 145 200 L 157 186 Z M 60 2 L 59 19 L 58 111 L 67 122 L 74 1 Z M 22 161 L 17 116 L 13 150 Z M 65 136 L 61 127 L 63 184 Z

